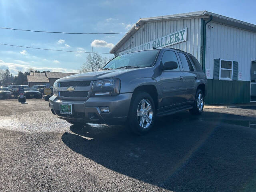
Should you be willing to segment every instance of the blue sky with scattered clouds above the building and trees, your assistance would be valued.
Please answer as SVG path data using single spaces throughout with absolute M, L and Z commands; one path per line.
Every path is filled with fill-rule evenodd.
M 0 0 L 0 27 L 58 32 L 128 32 L 139 18 L 207 10 L 256 24 L 256 1 Z M 45 34 L 0 29 L 0 43 L 72 51 L 109 52 L 123 34 Z M 0 69 L 77 72 L 85 53 L 0 45 Z M 102 54 L 110 57 L 111 54 Z

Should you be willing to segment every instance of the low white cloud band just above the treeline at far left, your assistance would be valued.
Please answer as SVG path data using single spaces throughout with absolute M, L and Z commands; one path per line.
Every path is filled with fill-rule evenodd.
M 17 64 L 17 63 L 0 63 L 0 69 L 9 69 L 10 73 L 16 75 L 18 70 L 25 72 L 29 68 L 34 68 L 39 71 L 52 71 L 52 72 L 66 72 L 66 73 L 78 73 L 77 70 L 74 69 L 66 69 L 66 68 L 54 68 L 54 67 L 36 67 L 30 64 Z

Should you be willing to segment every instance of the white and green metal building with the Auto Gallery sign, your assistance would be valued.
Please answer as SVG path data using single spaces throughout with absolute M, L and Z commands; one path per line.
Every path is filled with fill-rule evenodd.
M 177 48 L 208 78 L 206 104 L 256 101 L 256 25 L 207 11 L 142 18 L 110 53 Z

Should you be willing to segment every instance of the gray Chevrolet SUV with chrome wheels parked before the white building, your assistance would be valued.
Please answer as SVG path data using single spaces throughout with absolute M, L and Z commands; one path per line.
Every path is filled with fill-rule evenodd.
M 182 110 L 201 114 L 206 75 L 198 60 L 178 49 L 132 52 L 101 70 L 56 80 L 52 113 L 71 124 L 128 124 L 145 134 L 155 118 Z

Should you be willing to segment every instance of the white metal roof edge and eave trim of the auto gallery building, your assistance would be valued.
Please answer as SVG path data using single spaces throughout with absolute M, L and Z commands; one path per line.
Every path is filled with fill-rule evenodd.
M 154 22 L 159 20 L 177 20 L 177 19 L 188 19 L 188 18 L 209 18 L 212 16 L 213 22 L 218 22 L 222 24 L 226 24 L 228 26 L 234 26 L 236 28 L 242 28 L 245 30 L 250 30 L 256 32 L 256 25 L 250 24 L 244 21 L 236 20 L 233 18 L 229 18 L 226 16 L 218 15 L 208 11 L 196 11 L 190 13 L 182 13 L 182 14 L 174 14 L 174 15 L 166 15 L 166 16 L 158 16 L 158 17 L 149 17 L 149 18 L 141 18 L 136 23 L 140 26 L 144 25 L 146 22 Z M 135 24 L 129 30 L 129 34 L 133 35 L 136 33 Z M 110 50 L 110 53 L 114 54 L 118 48 L 120 48 L 131 36 L 129 34 L 125 34 L 121 40 Z

